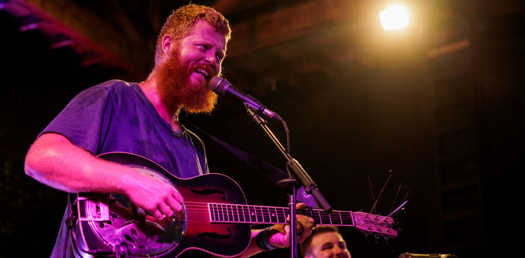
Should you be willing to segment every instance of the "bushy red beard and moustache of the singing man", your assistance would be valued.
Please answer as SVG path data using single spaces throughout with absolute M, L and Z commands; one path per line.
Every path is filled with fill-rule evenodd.
M 170 114 L 176 115 L 180 109 L 195 114 L 210 113 L 214 109 L 217 94 L 212 92 L 208 85 L 195 85 L 190 80 L 190 75 L 196 68 L 206 70 L 210 78 L 216 74 L 207 64 L 194 64 L 192 67 L 181 64 L 178 50 L 173 51 L 170 57 L 160 64 L 157 89 Z M 210 78 L 206 78 L 206 81 Z

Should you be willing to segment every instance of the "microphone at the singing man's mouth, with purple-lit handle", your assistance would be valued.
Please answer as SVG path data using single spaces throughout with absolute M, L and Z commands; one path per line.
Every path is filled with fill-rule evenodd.
M 213 92 L 221 96 L 228 95 L 230 97 L 239 99 L 241 102 L 246 103 L 246 105 L 257 110 L 259 114 L 263 114 L 269 119 L 282 121 L 282 118 L 275 114 L 274 111 L 271 111 L 270 109 L 263 106 L 259 100 L 255 99 L 254 97 L 239 91 L 237 88 L 232 86 L 232 84 L 226 81 L 225 78 L 213 76 L 212 80 L 209 81 L 208 86 Z

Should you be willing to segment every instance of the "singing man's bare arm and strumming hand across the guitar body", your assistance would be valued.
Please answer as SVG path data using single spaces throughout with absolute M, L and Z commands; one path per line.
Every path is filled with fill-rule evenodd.
M 72 144 L 66 137 L 47 133 L 29 149 L 26 173 L 39 182 L 66 192 L 120 193 L 158 220 L 182 218 L 183 197 L 152 176 L 121 164 L 104 161 Z

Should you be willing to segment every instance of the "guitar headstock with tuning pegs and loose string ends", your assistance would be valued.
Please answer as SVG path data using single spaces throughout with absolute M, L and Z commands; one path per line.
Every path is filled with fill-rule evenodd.
M 393 229 L 394 219 L 366 212 L 352 212 L 355 228 L 366 234 L 374 234 L 376 237 L 395 238 L 397 230 Z

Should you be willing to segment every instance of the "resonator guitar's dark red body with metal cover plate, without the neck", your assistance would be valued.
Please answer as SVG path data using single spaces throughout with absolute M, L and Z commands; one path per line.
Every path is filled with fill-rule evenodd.
M 74 205 L 75 235 L 83 250 L 95 256 L 127 249 L 130 257 L 177 257 L 200 250 L 234 256 L 250 242 L 247 223 L 211 223 L 207 203 L 246 205 L 243 190 L 231 178 L 205 174 L 188 179 L 171 175 L 158 164 L 129 153 L 107 153 L 100 158 L 117 162 L 173 185 L 184 197 L 185 219 L 171 226 L 146 219 L 141 209 L 119 194 L 78 194 Z M 180 220 L 177 220 L 180 221 Z M 187 251 L 187 252 L 185 252 Z M 202 253 L 201 253 L 202 254 Z

